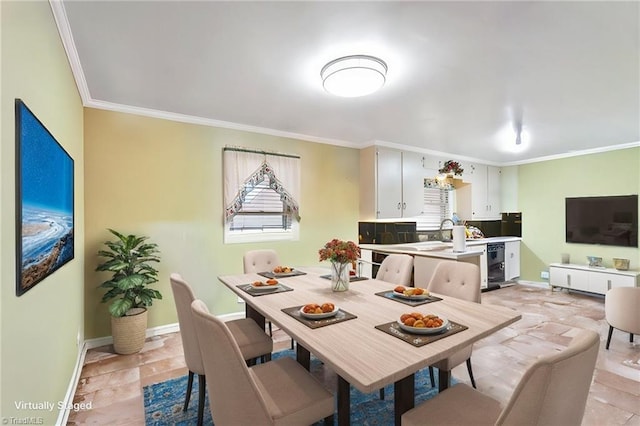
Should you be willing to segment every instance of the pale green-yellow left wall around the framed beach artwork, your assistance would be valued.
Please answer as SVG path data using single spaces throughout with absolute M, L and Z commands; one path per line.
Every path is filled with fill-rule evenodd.
M 83 326 L 82 103 L 49 3 L 2 1 L 0 11 L 0 415 L 8 421 L 33 416 L 53 424 Z M 29 106 L 75 161 L 75 259 L 21 297 L 15 295 L 15 98 Z M 16 409 L 20 401 L 49 402 L 55 409 Z

